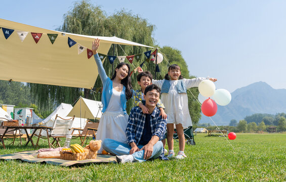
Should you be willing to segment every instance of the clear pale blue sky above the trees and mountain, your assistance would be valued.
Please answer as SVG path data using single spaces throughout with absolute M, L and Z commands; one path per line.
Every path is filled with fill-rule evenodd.
M 74 1 L 3 1 L 0 18 L 52 29 Z M 107 15 L 125 8 L 156 26 L 162 47 L 182 52 L 190 74 L 229 92 L 257 81 L 286 88 L 286 1 L 90 1 Z M 183 75 L 184 76 L 184 75 Z

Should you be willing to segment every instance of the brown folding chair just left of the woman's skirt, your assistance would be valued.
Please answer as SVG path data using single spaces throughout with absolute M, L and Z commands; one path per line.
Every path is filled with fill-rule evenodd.
M 93 137 L 96 139 L 96 132 L 97 132 L 97 128 L 98 128 L 99 123 L 87 123 L 84 129 L 81 128 L 72 128 L 72 136 L 76 139 L 76 138 L 80 138 L 81 141 L 81 146 L 84 145 L 85 140 L 89 137 Z M 73 134 L 73 132 L 75 130 L 81 131 L 81 133 L 79 134 Z M 84 140 L 83 140 L 84 138 Z M 87 140 L 88 141 L 88 140 Z

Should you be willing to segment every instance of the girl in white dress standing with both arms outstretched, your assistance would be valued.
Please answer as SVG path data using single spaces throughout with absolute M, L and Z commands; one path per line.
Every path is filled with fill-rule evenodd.
M 168 69 L 168 74 L 163 80 L 153 80 L 153 84 L 161 88 L 161 101 L 164 103 L 165 112 L 168 116 L 167 121 L 167 143 L 169 148 L 168 158 L 175 157 L 174 153 L 174 124 L 176 125 L 179 136 L 179 149 L 177 159 L 187 157 L 184 153 L 185 135 L 184 128 L 192 125 L 191 116 L 188 107 L 187 89 L 196 87 L 200 81 L 206 78 L 185 79 L 181 75 L 180 67 L 173 64 Z M 217 81 L 216 78 L 210 78 L 211 81 Z

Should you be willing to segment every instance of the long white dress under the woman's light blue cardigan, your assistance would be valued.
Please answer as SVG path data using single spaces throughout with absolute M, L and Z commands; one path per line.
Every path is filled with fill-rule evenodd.
M 105 112 L 100 118 L 96 140 L 113 139 L 118 142 L 127 143 L 126 127 L 128 114 L 124 114 L 121 103 L 120 93 L 112 88 L 112 95 Z M 98 153 L 102 152 L 102 148 Z

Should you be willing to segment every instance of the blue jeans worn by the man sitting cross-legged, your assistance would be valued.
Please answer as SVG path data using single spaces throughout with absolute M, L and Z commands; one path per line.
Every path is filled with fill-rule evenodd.
M 141 149 L 142 147 L 144 147 L 143 145 L 139 145 L 138 148 Z M 102 148 L 111 153 L 111 154 L 115 154 L 115 155 L 129 155 L 129 151 L 131 150 L 131 146 L 129 144 L 124 144 L 121 142 L 117 142 L 115 140 L 112 139 L 104 139 L 103 143 L 102 143 Z M 158 141 L 154 146 L 153 146 L 153 152 L 152 155 L 149 159 L 156 159 L 160 156 L 160 154 L 163 151 L 163 143 L 161 141 Z M 139 161 L 139 162 L 143 162 L 146 161 L 144 159 L 144 150 L 142 151 L 138 151 L 138 152 L 134 152 L 132 154 L 132 156 L 134 157 L 135 160 Z

